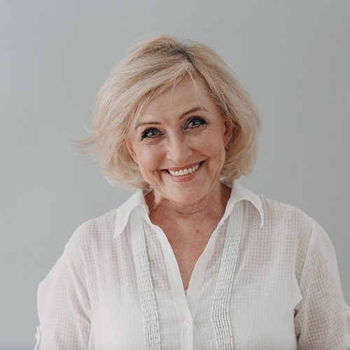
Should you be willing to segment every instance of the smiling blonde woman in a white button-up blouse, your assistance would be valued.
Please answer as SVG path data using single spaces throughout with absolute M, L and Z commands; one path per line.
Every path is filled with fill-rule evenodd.
M 39 283 L 36 348 L 350 349 L 326 232 L 236 181 L 259 132 L 248 94 L 206 45 L 134 45 L 80 146 L 137 191 L 80 225 Z

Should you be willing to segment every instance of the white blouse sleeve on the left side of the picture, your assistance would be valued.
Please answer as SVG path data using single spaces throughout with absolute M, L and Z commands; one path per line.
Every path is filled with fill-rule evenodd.
M 83 263 L 78 253 L 69 253 L 67 246 L 38 284 L 37 308 L 39 326 L 35 349 L 88 349 L 90 303 Z

